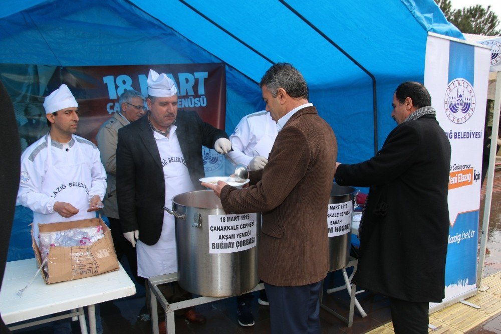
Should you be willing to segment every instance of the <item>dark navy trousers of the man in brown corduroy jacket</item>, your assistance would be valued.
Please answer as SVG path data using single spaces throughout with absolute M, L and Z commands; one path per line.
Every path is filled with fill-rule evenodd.
M 265 282 L 272 333 L 320 333 L 321 283 L 276 286 Z

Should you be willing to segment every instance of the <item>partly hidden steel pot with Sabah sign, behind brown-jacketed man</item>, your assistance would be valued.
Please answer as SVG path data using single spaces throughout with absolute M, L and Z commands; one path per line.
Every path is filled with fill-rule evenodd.
M 327 226 L 329 234 L 339 235 L 329 237 L 329 271 L 344 268 L 350 261 L 351 221 L 353 218 L 356 192 L 357 191 L 352 187 L 343 187 L 336 183 L 332 185 L 329 205 L 336 205 L 330 206 L 336 209 L 329 211 L 331 215 L 330 217 L 328 215 Z M 351 212 L 348 213 L 348 210 Z M 343 224 L 334 224 L 336 221 L 340 220 L 344 220 Z M 350 224 L 349 228 L 346 226 L 346 221 L 348 220 Z M 331 224 L 331 222 L 333 224 Z

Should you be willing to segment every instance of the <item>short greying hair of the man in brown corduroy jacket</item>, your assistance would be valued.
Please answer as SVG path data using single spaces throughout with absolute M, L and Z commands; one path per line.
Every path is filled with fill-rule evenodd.
M 273 97 L 277 97 L 279 88 L 293 98 L 308 99 L 308 85 L 303 75 L 289 63 L 278 63 L 266 71 L 259 87 L 266 86 Z

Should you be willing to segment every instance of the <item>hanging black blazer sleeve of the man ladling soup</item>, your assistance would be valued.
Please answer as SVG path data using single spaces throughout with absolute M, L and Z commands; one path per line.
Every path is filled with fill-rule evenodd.
M 138 230 L 135 199 L 135 166 L 130 147 L 131 137 L 126 128 L 118 130 L 117 144 L 117 201 L 123 232 Z

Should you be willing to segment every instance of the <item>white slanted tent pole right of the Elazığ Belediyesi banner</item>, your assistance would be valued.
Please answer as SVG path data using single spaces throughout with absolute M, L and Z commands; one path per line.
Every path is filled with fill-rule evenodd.
M 487 248 L 487 232 L 489 230 L 490 205 L 492 202 L 492 185 L 494 183 L 494 164 L 496 161 L 497 130 L 499 128 L 499 111 L 501 110 L 501 71 L 497 72 L 496 93 L 494 96 L 494 119 L 492 120 L 492 134 L 490 137 L 489 166 L 487 170 L 487 189 L 483 207 L 482 239 L 480 241 L 480 254 L 476 273 L 476 286 L 482 285 L 485 250 Z M 485 135 L 485 133 L 484 133 Z

